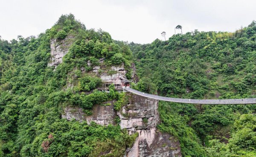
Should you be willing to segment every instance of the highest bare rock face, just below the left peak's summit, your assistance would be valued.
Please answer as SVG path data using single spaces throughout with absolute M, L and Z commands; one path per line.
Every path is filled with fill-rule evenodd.
M 73 38 L 74 37 L 67 37 L 63 40 L 51 40 L 51 61 L 48 63 L 48 67 L 54 66 L 56 68 L 58 64 L 62 63 L 62 58 L 67 54 Z

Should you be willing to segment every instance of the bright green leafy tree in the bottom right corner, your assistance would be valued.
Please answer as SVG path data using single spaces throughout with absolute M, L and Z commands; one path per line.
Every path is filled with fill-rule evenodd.
M 253 157 L 256 155 L 255 119 L 253 114 L 243 114 L 234 123 L 228 143 L 210 140 L 206 149 L 212 157 Z

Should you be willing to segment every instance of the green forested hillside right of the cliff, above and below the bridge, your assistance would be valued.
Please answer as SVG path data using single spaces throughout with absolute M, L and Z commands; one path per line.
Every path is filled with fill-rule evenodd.
M 140 77 L 134 88 L 143 92 L 190 99 L 256 97 L 255 21 L 234 33 L 195 30 L 130 47 Z M 179 138 L 184 156 L 256 155 L 256 105 L 159 106 L 158 127 Z

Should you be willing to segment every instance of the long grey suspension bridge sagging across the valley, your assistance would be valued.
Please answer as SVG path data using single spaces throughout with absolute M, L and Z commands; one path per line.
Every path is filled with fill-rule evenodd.
M 246 98 L 246 99 L 179 99 L 179 98 L 169 98 L 164 96 L 155 96 L 152 94 L 147 94 L 134 90 L 132 88 L 125 88 L 128 92 L 144 96 L 151 99 L 163 100 L 167 102 L 181 102 L 187 104 L 256 104 L 256 98 Z

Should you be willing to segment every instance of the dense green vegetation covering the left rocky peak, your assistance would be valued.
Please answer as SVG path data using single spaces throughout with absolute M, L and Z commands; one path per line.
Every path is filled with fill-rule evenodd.
M 55 70 L 47 67 L 51 39 L 71 36 L 74 44 L 63 63 Z M 113 99 L 120 108 L 122 94 L 113 86 L 110 93 L 93 91 L 102 83 L 88 73 L 87 61 L 96 65 L 105 57 L 106 67 L 122 62 L 130 66 L 127 47 L 114 44 L 107 32 L 85 29 L 73 15 L 62 15 L 38 38 L 0 40 L 0 157 L 95 157 L 110 150 L 109 156 L 122 156 L 137 134 L 130 136 L 118 125 L 67 121 L 61 112 L 66 105 L 77 105 L 91 114 L 93 105 Z

